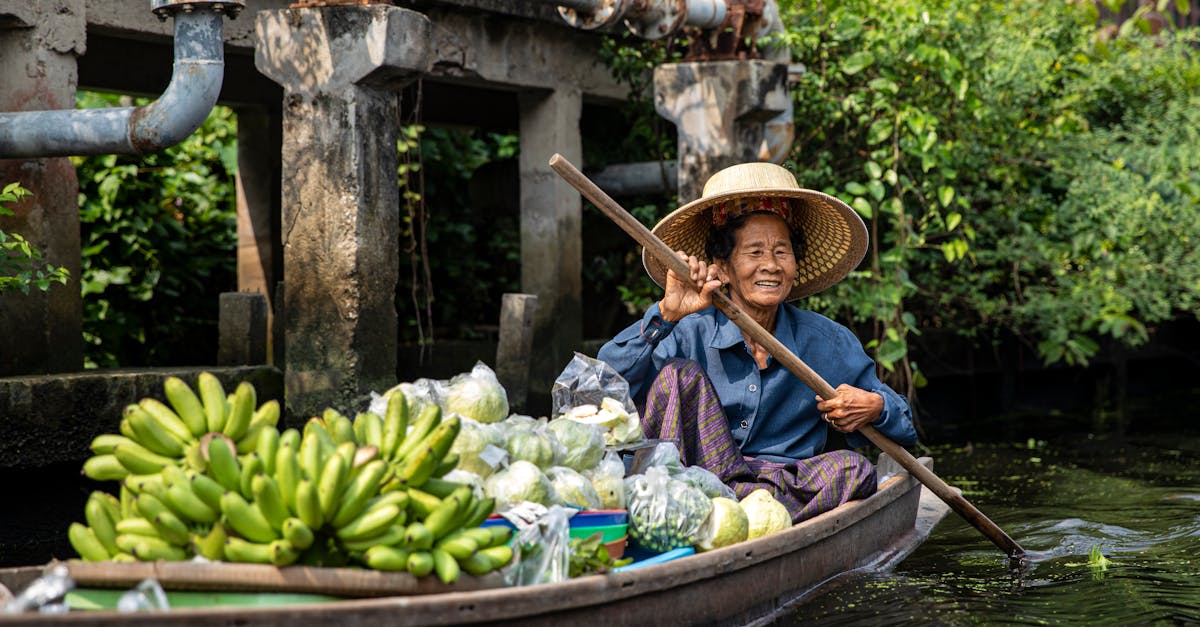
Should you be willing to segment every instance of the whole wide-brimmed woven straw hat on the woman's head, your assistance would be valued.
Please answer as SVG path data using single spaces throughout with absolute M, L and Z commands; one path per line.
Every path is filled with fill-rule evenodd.
M 752 202 L 758 199 L 762 202 Z M 713 174 L 698 199 L 672 211 L 653 232 L 671 250 L 703 259 L 708 233 L 716 222 L 754 210 L 781 215 L 792 228 L 804 233 L 805 250 L 796 259 L 799 281 L 792 285 L 787 300 L 836 283 L 866 255 L 863 219 L 828 193 L 802 189 L 791 172 L 775 163 L 740 163 Z M 666 286 L 667 267 L 644 249 L 642 264 L 655 283 Z

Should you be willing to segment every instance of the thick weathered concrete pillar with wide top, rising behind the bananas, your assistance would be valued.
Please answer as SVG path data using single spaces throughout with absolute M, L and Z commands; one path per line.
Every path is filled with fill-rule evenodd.
M 398 89 L 430 22 L 371 5 L 260 11 L 254 62 L 283 86 L 283 328 L 293 416 L 396 381 Z

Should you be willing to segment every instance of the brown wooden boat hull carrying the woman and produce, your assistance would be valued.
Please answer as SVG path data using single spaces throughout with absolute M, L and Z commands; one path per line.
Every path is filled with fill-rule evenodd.
M 920 461 L 931 466 L 929 458 Z M 893 468 L 895 473 L 869 498 L 852 501 L 787 531 L 637 569 L 538 586 L 486 587 L 494 581 L 475 581 L 468 584 L 475 590 L 460 586 L 449 592 L 430 593 L 422 593 L 427 586 L 426 590 L 409 586 L 410 590 L 376 598 L 274 607 L 182 608 L 166 616 L 170 616 L 169 622 L 187 626 L 746 625 L 769 617 L 840 574 L 890 568 L 928 537 L 948 508 L 890 460 L 882 459 L 878 467 L 881 476 L 892 473 Z M 178 569 L 187 566 L 174 565 Z M 30 572 L 20 571 L 11 569 L 7 579 L 30 578 Z M 415 581 L 403 573 L 358 573 L 367 578 L 403 575 Z M 5 579 L 6 574 L 0 572 L 0 583 Z M 5 619 L 0 615 L 0 625 Z M 24 614 L 7 619 L 29 625 L 167 622 L 162 613 L 114 611 Z

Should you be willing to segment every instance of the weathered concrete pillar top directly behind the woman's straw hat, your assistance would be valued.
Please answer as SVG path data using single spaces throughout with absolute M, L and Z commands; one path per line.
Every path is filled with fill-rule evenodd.
M 698 198 L 708 177 L 721 168 L 779 161 L 779 136 L 790 138 L 792 132 L 791 120 L 779 123 L 790 98 L 787 64 L 692 61 L 655 67 L 654 107 L 678 130 L 679 202 Z

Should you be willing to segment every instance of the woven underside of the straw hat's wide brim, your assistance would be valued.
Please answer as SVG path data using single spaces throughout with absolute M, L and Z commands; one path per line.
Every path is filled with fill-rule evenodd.
M 707 258 L 704 244 L 713 228 L 713 205 L 746 197 L 793 199 L 788 222 L 804 233 L 808 250 L 803 258 L 796 259 L 800 276 L 787 294 L 790 301 L 841 281 L 866 255 L 866 225 L 858 213 L 828 193 L 796 187 L 740 190 L 698 198 L 671 211 L 652 232 L 671 250 Z M 667 267 L 646 249 L 642 249 L 642 265 L 659 287 L 666 286 Z

